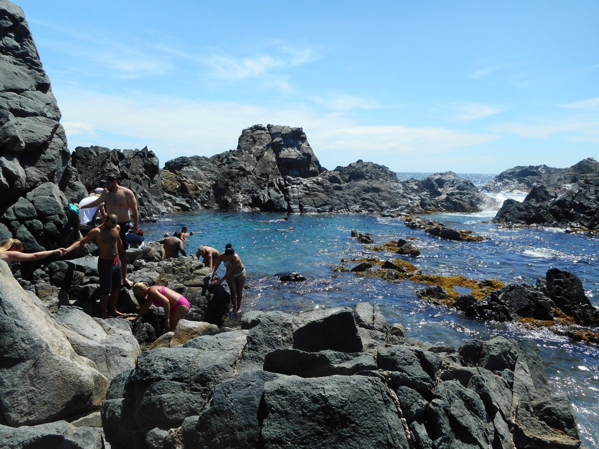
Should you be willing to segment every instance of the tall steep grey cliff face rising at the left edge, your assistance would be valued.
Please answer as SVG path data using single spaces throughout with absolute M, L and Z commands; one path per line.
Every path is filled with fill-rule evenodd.
M 0 241 L 52 247 L 65 207 L 86 195 L 23 11 L 0 1 Z

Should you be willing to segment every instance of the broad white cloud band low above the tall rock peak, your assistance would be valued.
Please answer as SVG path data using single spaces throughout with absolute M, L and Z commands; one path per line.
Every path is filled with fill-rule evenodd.
M 345 165 L 356 159 L 401 166 L 401 158 L 407 154 L 426 160 L 497 138 L 445 128 L 356 126 L 343 114 L 317 114 L 297 105 L 265 108 L 135 92 L 117 96 L 69 85 L 56 87 L 55 95 L 65 119 L 69 147 L 147 145 L 163 164 L 179 156 L 211 156 L 235 148 L 241 130 L 256 123 L 302 126 L 325 166 Z

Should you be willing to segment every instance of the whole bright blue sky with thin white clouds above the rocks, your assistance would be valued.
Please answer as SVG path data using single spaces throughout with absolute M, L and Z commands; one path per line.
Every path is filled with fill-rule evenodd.
M 69 148 L 164 162 L 301 126 L 326 168 L 599 159 L 599 2 L 17 2 Z

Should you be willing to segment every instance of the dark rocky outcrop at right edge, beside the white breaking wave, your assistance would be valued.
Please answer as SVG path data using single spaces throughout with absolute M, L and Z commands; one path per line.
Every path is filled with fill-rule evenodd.
M 507 170 L 483 190 L 524 190 L 522 202 L 507 199 L 495 223 L 596 229 L 599 226 L 599 162 L 592 157 L 570 168 L 547 166 Z

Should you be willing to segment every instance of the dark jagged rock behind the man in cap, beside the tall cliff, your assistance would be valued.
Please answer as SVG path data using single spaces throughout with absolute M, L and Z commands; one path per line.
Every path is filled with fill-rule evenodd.
M 167 213 L 162 198 L 158 157 L 147 147 L 122 151 L 94 145 L 77 147 L 71 158 L 88 191 L 99 187 L 102 175 L 111 172 L 119 177 L 120 185 L 135 193 L 141 217 Z

